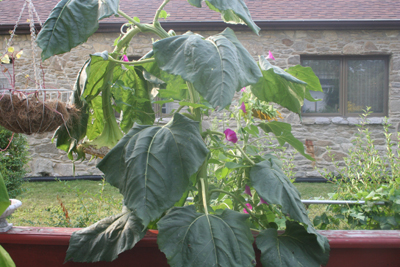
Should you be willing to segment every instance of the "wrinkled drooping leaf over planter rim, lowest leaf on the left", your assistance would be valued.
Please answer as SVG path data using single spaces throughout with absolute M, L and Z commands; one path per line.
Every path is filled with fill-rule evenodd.
M 65 261 L 113 261 L 146 234 L 142 221 L 124 207 L 123 212 L 105 218 L 71 235 Z

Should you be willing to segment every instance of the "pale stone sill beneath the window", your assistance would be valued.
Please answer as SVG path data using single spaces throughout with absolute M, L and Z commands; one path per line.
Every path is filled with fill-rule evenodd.
M 383 124 L 385 121 L 384 117 L 369 117 L 367 124 Z M 361 123 L 359 117 L 303 117 L 301 124 L 338 124 L 338 125 L 357 125 Z

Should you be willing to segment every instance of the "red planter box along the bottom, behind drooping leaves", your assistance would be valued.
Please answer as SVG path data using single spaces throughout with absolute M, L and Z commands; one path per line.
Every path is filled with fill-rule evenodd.
M 73 228 L 14 227 L 0 234 L 0 244 L 18 267 L 138 266 L 167 267 L 167 259 L 157 246 L 157 232 L 150 230 L 136 246 L 113 262 L 63 264 Z M 400 231 L 320 231 L 328 237 L 331 257 L 326 267 L 398 267 Z M 259 251 L 257 266 L 259 263 Z M 228 266 L 227 266 L 228 267 Z

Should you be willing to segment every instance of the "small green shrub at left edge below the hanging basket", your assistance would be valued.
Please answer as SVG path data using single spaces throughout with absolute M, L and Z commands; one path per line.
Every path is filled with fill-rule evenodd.
M 9 144 L 12 132 L 0 126 L 0 148 L 4 150 Z M 26 174 L 24 168 L 28 162 L 28 142 L 26 137 L 14 134 L 11 144 L 0 152 L 0 173 L 3 176 L 10 198 L 21 194 L 22 178 Z

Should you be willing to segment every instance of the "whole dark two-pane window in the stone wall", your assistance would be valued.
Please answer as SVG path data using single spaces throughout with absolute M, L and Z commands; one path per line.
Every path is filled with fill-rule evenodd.
M 311 95 L 321 101 L 304 101 L 303 115 L 358 116 L 371 107 L 374 116 L 386 116 L 388 107 L 388 57 L 302 56 L 301 64 L 311 67 L 323 92 Z

